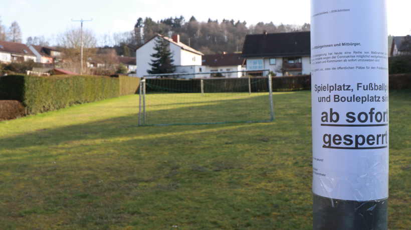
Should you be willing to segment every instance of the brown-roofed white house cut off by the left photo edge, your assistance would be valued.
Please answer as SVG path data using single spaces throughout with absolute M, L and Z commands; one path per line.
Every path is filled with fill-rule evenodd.
M 0 62 L 36 61 L 36 55 L 27 45 L 17 42 L 0 40 Z

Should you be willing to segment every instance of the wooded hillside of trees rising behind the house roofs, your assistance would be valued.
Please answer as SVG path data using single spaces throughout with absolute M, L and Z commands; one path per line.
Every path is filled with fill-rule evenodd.
M 147 42 L 157 33 L 163 33 L 171 37 L 173 34 L 180 35 L 180 41 L 204 54 L 214 54 L 241 51 L 247 34 L 259 34 L 266 30 L 268 33 L 309 31 L 310 24 L 303 25 L 283 24 L 275 25 L 273 22 L 259 22 L 247 26 L 246 21 L 235 21 L 233 19 L 217 19 L 208 21 L 197 21 L 194 16 L 186 21 L 180 17 L 169 17 L 154 21 L 151 17 L 138 18 L 134 29 L 128 32 L 113 34 L 117 45 L 127 43 L 137 47 Z M 106 36 L 107 37 L 107 36 Z

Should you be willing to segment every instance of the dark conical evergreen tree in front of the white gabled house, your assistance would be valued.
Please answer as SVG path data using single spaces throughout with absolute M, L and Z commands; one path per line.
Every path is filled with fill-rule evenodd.
M 174 60 L 172 59 L 171 51 L 169 50 L 169 41 L 161 36 L 155 38 L 155 53 L 150 56 L 154 57 L 152 63 L 150 63 L 151 70 L 147 70 L 149 74 L 159 74 L 159 73 L 173 73 L 175 66 L 173 65 Z

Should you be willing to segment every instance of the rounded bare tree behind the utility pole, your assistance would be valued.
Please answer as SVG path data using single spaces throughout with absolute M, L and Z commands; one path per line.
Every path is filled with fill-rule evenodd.
M 57 35 L 58 46 L 64 53 L 63 68 L 70 71 L 80 72 L 80 52 L 81 52 L 81 27 L 72 27 Z M 88 61 L 96 55 L 97 39 L 91 29 L 83 28 L 83 56 Z M 84 65 L 83 73 L 91 74 L 92 71 Z

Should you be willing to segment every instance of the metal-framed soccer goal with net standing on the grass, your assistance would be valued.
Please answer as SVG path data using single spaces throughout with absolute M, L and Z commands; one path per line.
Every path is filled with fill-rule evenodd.
M 271 75 L 176 79 L 181 75 L 269 70 L 169 73 L 140 81 L 139 125 L 269 122 L 274 119 Z M 154 78 L 164 76 L 167 78 Z

